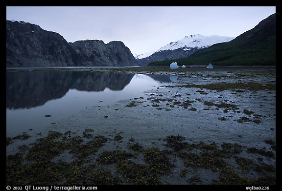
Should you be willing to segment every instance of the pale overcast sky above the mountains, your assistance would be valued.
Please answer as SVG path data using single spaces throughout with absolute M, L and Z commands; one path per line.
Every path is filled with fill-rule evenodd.
M 38 24 L 68 42 L 122 41 L 133 54 L 157 51 L 185 36 L 237 37 L 276 13 L 275 6 L 6 7 L 6 19 Z

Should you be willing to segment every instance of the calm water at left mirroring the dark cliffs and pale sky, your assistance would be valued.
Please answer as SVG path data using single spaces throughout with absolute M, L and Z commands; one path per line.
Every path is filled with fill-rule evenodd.
M 144 91 L 176 80 L 171 76 L 79 71 L 6 72 L 6 136 L 51 123 L 91 106 L 107 106 L 144 96 Z M 51 115 L 51 117 L 45 117 Z

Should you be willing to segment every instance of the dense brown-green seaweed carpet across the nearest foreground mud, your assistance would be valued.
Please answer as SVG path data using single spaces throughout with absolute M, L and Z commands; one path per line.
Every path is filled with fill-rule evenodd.
M 175 173 L 171 173 L 176 160 L 172 161 L 170 157 L 179 157 L 183 161 L 184 169 L 177 174 L 183 178 L 191 170 L 200 168 L 219 171 L 219 179 L 213 180 L 213 184 L 275 184 L 276 181 L 275 166 L 263 163 L 264 157 L 258 157 L 260 159 L 256 164 L 251 159 L 237 156 L 243 151 L 243 147 L 236 143 L 222 143 L 219 148 L 214 142 L 189 144 L 183 136 L 168 135 L 163 139 L 166 141 L 164 146 L 171 150 L 160 150 L 156 147 L 144 149 L 141 144 L 134 144 L 135 140 L 131 138 L 127 149 L 136 152 L 106 150 L 97 157 L 92 157 L 91 154 L 104 146 L 108 138 L 98 135 L 84 143 L 82 137 L 71 137 L 70 133 L 49 131 L 46 137 L 37 139 L 33 144 L 19 146 L 18 153 L 6 157 L 6 184 L 162 184 L 163 175 L 175 176 Z M 8 141 L 10 140 L 12 139 Z M 265 140 L 264 143 L 275 147 L 272 139 Z M 73 153 L 75 160 L 56 160 L 55 156 L 68 151 Z M 275 154 L 266 149 L 248 148 L 246 151 L 275 158 Z M 143 156 L 140 157 L 143 159 L 141 164 L 133 162 L 137 156 Z M 242 177 L 242 172 L 239 175 L 235 169 L 229 168 L 234 164 L 228 163 L 226 158 L 231 157 L 235 159 L 239 171 L 242 170 L 248 177 L 250 173 L 257 173 L 258 178 Z M 105 169 L 104 166 L 109 164 L 114 164 L 110 166 L 116 169 Z M 189 176 L 187 182 L 201 184 L 200 178 L 201 176 Z

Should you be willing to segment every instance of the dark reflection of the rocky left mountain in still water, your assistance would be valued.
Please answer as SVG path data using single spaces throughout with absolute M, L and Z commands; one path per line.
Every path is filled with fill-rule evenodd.
M 79 91 L 123 90 L 134 74 L 76 71 L 22 71 L 6 73 L 6 108 L 42 106 L 70 89 Z

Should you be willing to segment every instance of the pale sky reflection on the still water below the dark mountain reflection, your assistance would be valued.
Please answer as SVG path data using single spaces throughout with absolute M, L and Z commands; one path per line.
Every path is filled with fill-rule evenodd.
M 6 109 L 7 136 L 16 136 L 28 129 L 40 132 L 44 127 L 91 106 L 108 106 L 118 100 L 144 96 L 145 90 L 159 83 L 149 76 L 136 74 L 121 91 L 106 88 L 104 91 L 88 92 L 71 89 L 60 99 L 50 100 L 43 106 L 29 109 Z M 100 102 L 102 101 L 102 102 Z M 45 117 L 51 115 L 52 117 Z

